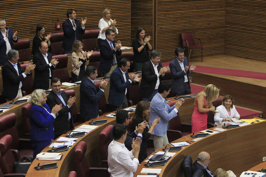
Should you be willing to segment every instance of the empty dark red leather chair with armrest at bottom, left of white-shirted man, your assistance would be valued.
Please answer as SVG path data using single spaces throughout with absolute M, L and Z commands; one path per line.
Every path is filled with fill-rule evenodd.
M 108 177 L 107 168 L 89 168 L 88 161 L 85 157 L 87 144 L 85 141 L 80 141 L 74 150 L 74 169 L 78 177 Z

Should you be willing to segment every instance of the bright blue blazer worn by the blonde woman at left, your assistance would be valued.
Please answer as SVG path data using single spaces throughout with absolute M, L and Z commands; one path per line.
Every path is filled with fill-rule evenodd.
M 47 104 L 43 105 L 48 112 L 51 110 Z M 43 107 L 35 104 L 30 108 L 30 140 L 45 141 L 54 138 L 53 121 L 54 118 Z

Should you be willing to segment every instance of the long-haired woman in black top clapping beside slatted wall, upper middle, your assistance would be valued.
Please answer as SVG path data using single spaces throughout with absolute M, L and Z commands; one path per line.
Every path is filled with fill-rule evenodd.
M 141 71 L 143 63 L 149 60 L 149 50 L 153 47 L 150 45 L 150 36 L 145 37 L 145 30 L 138 27 L 136 37 L 132 41 L 134 52 L 134 70 Z

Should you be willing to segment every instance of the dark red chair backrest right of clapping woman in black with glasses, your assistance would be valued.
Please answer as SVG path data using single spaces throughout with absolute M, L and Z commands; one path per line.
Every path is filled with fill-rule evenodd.
M 51 54 L 60 55 L 65 53 L 65 50 L 61 48 L 63 40 L 64 40 L 64 32 L 52 33 L 52 36 L 50 37 L 51 48 L 52 48 Z

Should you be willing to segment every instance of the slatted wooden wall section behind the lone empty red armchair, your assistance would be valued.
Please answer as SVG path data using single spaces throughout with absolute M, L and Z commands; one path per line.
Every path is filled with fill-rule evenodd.
M 163 54 L 161 61 L 172 60 L 175 48 L 182 47 L 182 32 L 191 32 L 194 38 L 202 40 L 204 56 L 223 54 L 225 4 L 219 0 L 157 0 L 155 43 Z M 200 44 L 199 41 L 196 43 Z M 192 50 L 191 58 L 200 56 L 201 50 Z

